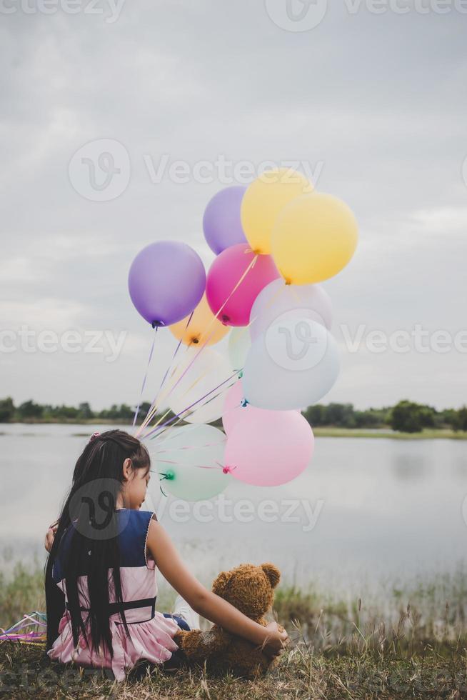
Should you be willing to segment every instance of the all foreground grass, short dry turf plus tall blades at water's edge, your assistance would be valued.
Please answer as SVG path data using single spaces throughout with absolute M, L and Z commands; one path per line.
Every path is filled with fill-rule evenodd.
M 41 571 L 16 564 L 0 578 L 0 622 L 44 609 Z M 166 596 L 170 596 L 166 592 Z M 164 609 L 169 597 L 161 602 Z M 463 568 L 405 585 L 386 583 L 344 600 L 310 586 L 281 586 L 276 619 L 290 648 L 257 681 L 215 677 L 202 669 L 153 669 L 114 684 L 99 672 L 49 664 L 37 646 L 0 643 L 0 696 L 26 699 L 176 698 L 209 700 L 467 697 L 467 578 Z

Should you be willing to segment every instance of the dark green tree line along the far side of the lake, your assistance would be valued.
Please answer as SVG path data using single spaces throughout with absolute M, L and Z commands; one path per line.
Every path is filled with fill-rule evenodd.
M 150 406 L 148 402 L 141 404 L 140 420 L 146 416 Z M 0 399 L 0 423 L 115 421 L 125 424 L 133 420 L 134 410 L 127 404 L 114 404 L 110 409 L 93 411 L 87 402 L 76 407 L 43 405 L 32 400 L 15 406 L 13 399 L 7 397 Z M 399 401 L 396 406 L 358 411 L 353 404 L 316 404 L 303 411 L 303 415 L 311 426 L 391 428 L 406 433 L 416 433 L 426 428 L 467 431 L 467 406 L 437 411 L 426 404 Z M 167 414 L 166 419 L 169 416 Z M 221 425 L 221 421 L 217 421 L 217 424 Z

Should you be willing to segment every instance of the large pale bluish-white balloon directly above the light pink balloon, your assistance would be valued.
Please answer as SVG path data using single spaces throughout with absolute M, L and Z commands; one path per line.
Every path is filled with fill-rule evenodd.
M 246 399 L 260 409 L 303 409 L 323 398 L 339 373 L 329 331 L 308 318 L 283 314 L 251 346 L 243 370 Z

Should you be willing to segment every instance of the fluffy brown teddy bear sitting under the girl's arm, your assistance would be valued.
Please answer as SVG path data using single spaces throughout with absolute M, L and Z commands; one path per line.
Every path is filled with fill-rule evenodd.
M 231 571 L 222 571 L 213 583 L 214 593 L 229 601 L 258 624 L 266 626 L 265 614 L 271 609 L 281 572 L 274 564 L 241 564 Z M 282 628 L 280 628 L 282 629 Z M 181 631 L 174 637 L 188 661 L 204 665 L 210 671 L 254 678 L 274 664 L 261 648 L 246 639 L 230 634 L 218 625 L 209 631 Z

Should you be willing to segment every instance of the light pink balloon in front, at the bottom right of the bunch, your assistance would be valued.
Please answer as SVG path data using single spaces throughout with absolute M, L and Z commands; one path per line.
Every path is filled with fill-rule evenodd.
M 296 411 L 259 411 L 238 421 L 227 436 L 224 469 L 254 486 L 279 486 L 296 479 L 313 456 L 311 426 Z

